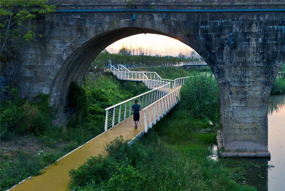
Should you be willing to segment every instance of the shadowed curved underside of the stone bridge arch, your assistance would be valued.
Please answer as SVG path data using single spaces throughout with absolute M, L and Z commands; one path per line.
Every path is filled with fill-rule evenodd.
M 69 58 L 66 59 L 63 66 L 59 70 L 56 79 L 53 82 L 53 86 L 50 92 L 50 105 L 56 105 L 58 108 L 63 108 L 64 106 L 66 106 L 66 101 L 67 101 L 66 97 L 68 95 L 68 90 L 71 82 L 75 81 L 78 84 L 81 84 L 84 75 L 88 67 L 90 66 L 91 62 L 106 47 L 125 37 L 136 34 L 146 34 L 146 33 L 159 34 L 173 39 L 178 39 L 182 43 L 191 47 L 202 58 L 203 54 L 207 54 L 207 51 L 202 47 L 197 46 L 197 43 L 191 43 L 195 42 L 194 39 L 188 40 L 186 42 L 179 35 L 174 36 L 153 29 L 135 28 L 135 27 L 118 28 L 112 31 L 108 31 L 89 39 L 87 42 L 85 42 L 75 51 L 73 51 L 73 53 L 69 56 Z M 202 55 L 198 51 L 200 51 Z M 210 66 L 211 70 L 214 73 L 215 71 L 214 69 L 215 67 L 213 67 L 214 65 L 209 64 L 209 59 L 208 61 L 207 59 L 205 61 L 208 64 L 208 66 Z

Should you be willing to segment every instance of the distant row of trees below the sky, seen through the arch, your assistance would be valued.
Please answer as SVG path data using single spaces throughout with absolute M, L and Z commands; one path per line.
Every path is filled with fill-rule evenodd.
M 133 55 L 127 47 L 121 47 L 118 53 L 103 50 L 91 63 L 87 72 L 103 72 L 110 65 L 125 65 L 128 68 L 151 68 L 160 66 L 173 66 L 179 62 L 197 62 L 199 58 L 185 58 L 161 55 Z

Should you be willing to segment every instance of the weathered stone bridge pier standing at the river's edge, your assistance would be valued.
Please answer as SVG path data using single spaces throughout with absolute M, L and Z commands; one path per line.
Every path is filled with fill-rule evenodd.
M 236 51 L 229 47 L 224 54 L 234 55 Z M 252 55 L 260 60 L 262 54 L 244 51 L 230 63 L 217 63 L 220 71 L 211 66 L 220 90 L 222 157 L 270 157 L 268 100 L 281 63 L 276 61 L 268 67 L 266 61 L 250 60 Z

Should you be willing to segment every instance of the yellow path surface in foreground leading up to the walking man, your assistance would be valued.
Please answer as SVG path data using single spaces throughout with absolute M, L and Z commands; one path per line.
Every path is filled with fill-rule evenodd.
M 78 168 L 90 156 L 96 156 L 102 153 L 106 143 L 109 143 L 116 137 L 122 135 L 124 139 L 132 139 L 135 135 L 144 129 L 143 114 L 140 114 L 138 128 L 134 128 L 133 117 L 127 118 L 124 122 L 114 126 L 101 135 L 83 145 L 80 149 L 66 155 L 55 164 L 45 168 L 44 174 L 27 179 L 23 183 L 15 186 L 11 190 L 69 190 L 68 171 L 72 168 Z

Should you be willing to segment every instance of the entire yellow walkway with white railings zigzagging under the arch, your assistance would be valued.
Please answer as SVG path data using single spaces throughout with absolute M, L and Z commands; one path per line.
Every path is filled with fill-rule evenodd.
M 181 85 L 187 78 L 162 79 L 155 72 L 132 72 L 124 66 L 119 66 L 119 69 L 113 67 L 111 71 L 118 79 L 141 81 L 151 90 L 105 109 L 105 132 L 43 169 L 42 175 L 29 177 L 22 183 L 15 185 L 11 190 L 69 190 L 70 178 L 68 171 L 70 169 L 76 169 L 89 157 L 102 153 L 106 143 L 118 136 L 130 139 L 130 144 L 132 144 L 132 141 L 137 137 L 148 132 L 149 128 L 152 128 L 178 103 Z M 134 128 L 133 112 L 131 110 L 135 99 L 139 101 L 142 107 L 137 129 Z

